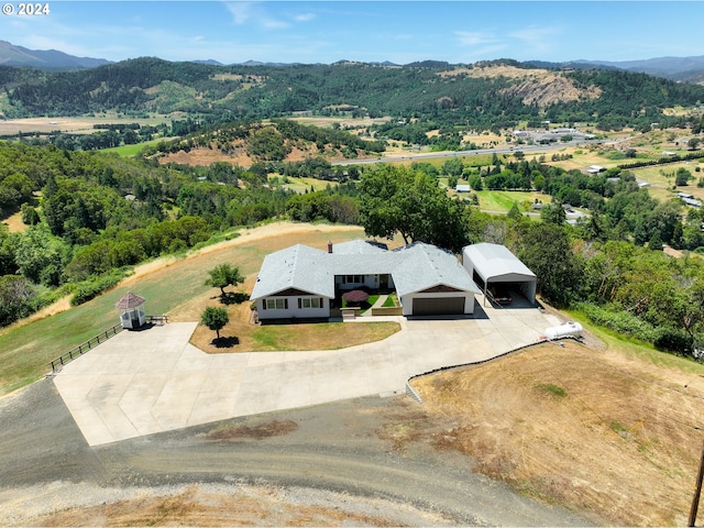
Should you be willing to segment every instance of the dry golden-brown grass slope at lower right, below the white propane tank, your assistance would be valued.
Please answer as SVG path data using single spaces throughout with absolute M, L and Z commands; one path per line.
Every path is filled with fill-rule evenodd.
M 433 435 L 477 470 L 617 525 L 686 521 L 701 450 L 704 382 L 566 341 L 414 381 Z

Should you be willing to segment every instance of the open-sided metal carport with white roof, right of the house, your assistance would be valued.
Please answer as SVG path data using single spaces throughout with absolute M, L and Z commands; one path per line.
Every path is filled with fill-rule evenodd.
M 518 289 L 534 305 L 538 278 L 508 248 L 501 244 L 468 245 L 462 250 L 462 265 L 481 283 L 486 297 L 493 287 Z

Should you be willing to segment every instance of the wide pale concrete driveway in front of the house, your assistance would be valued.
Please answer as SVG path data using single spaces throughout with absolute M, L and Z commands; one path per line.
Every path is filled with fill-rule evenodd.
M 188 342 L 195 322 L 123 331 L 64 366 L 54 383 L 88 443 L 99 446 L 238 416 L 400 393 L 416 374 L 495 358 L 539 341 L 547 327 L 560 323 L 535 308 L 480 306 L 472 318 L 385 318 L 399 321 L 403 330 L 336 351 L 206 354 Z

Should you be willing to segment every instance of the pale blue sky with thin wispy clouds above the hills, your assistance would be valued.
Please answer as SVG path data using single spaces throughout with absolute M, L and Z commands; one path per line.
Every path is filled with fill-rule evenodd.
M 14 0 L 4 1 L 16 9 Z M 45 3 L 45 2 L 42 2 Z M 65 1 L 0 14 L 0 40 L 122 61 L 407 64 L 704 55 L 700 1 Z

